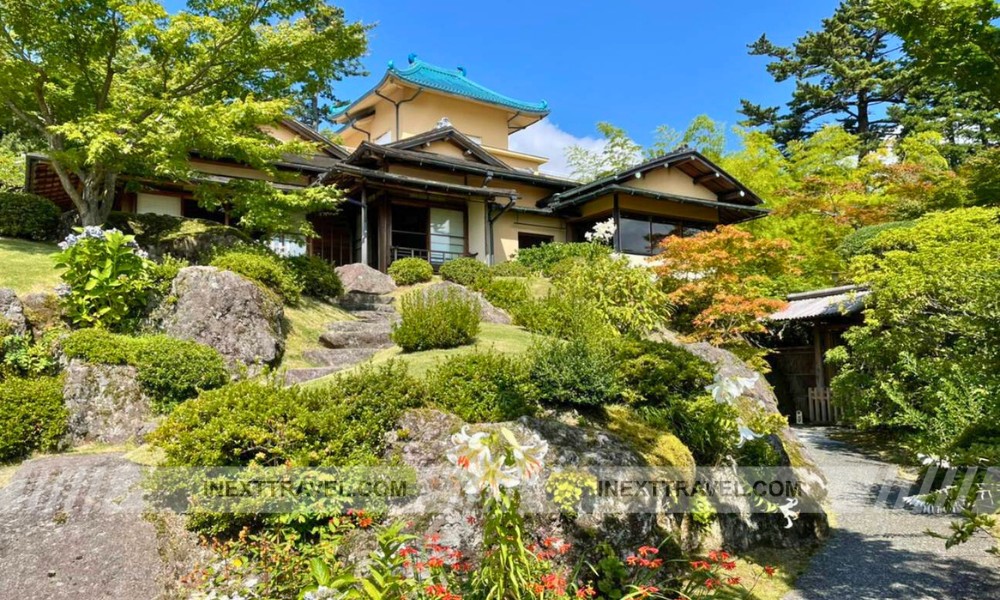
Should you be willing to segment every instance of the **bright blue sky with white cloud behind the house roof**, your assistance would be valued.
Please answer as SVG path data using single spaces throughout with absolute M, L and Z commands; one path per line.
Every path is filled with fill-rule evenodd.
M 746 45 L 766 32 L 788 44 L 833 13 L 836 0 L 677 0 L 543 2 L 506 0 L 332 0 L 348 18 L 376 25 L 364 64 L 371 73 L 346 80 L 338 96 L 354 99 L 386 63 L 415 52 L 515 98 L 548 101 L 548 123 L 517 144 L 561 162 L 568 143 L 595 145 L 594 125 L 610 121 L 640 143 L 658 125 L 684 129 L 698 114 L 732 126 L 740 98 L 781 104 L 766 59 Z M 169 5 L 181 4 L 168 1 Z M 535 131 L 533 131 L 535 130 Z M 553 164 L 554 171 L 562 167 Z

